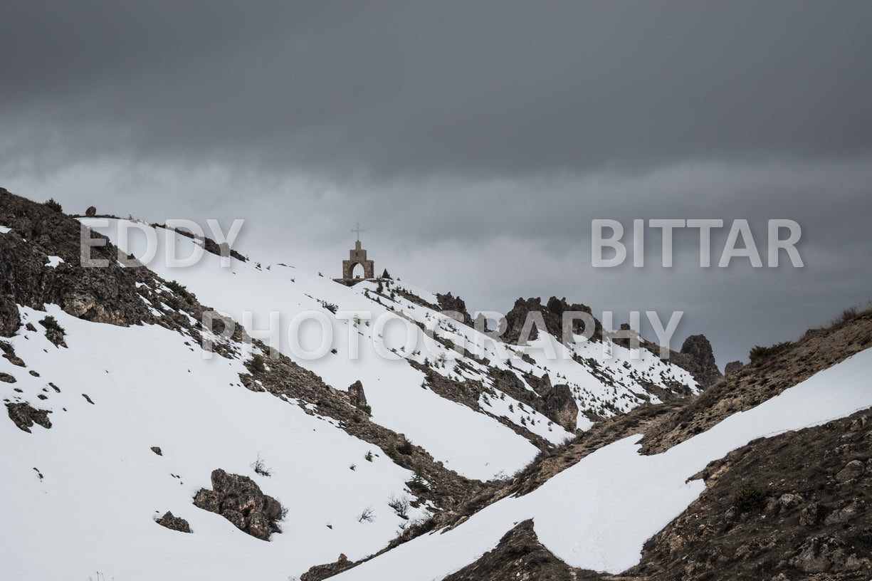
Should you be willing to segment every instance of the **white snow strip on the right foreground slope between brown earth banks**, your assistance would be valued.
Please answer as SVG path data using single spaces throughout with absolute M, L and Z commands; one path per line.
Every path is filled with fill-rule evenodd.
M 565 563 L 625 571 L 638 563 L 644 542 L 705 489 L 705 482 L 690 479 L 709 461 L 756 438 L 872 407 L 870 368 L 867 349 L 659 455 L 638 454 L 641 436 L 617 441 L 527 496 L 495 502 L 453 530 L 413 539 L 335 578 L 441 579 L 494 549 L 508 530 L 530 518 L 542 544 Z

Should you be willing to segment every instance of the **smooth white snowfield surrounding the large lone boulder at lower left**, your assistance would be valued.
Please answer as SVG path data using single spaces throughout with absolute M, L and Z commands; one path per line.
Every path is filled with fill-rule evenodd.
M 22 307 L 36 331 L 23 328 L 10 345 L 24 366 L 0 359 L 0 373 L 15 379 L 0 383 L 3 400 L 51 412 L 51 428 L 31 434 L 0 422 L 3 575 L 286 579 L 342 552 L 371 554 L 406 522 L 387 502 L 411 498 L 411 470 L 294 402 L 244 389 L 242 360 L 203 359 L 190 338 L 159 326 L 46 311 L 68 348 L 45 338 L 45 312 Z M 271 476 L 255 473 L 258 456 Z M 251 477 L 281 502 L 283 532 L 264 543 L 195 508 L 215 468 Z M 367 508 L 374 520 L 358 522 Z M 153 522 L 167 510 L 194 534 Z

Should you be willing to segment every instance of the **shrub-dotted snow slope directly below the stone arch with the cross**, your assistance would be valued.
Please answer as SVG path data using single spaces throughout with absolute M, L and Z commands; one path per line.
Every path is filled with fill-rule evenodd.
M 123 243 L 117 236 L 119 224 L 126 227 L 129 221 L 82 222 L 121 242 L 134 256 L 145 252 L 146 236 L 137 236 L 136 230 L 143 228 L 157 241 L 158 257 L 165 256 L 167 239 L 175 256 L 196 251 L 193 239 L 163 228 L 137 223 Z M 337 389 L 362 380 L 373 421 L 405 434 L 447 468 L 471 478 L 510 475 L 538 452 L 531 442 L 558 444 L 569 437 L 558 418 L 542 414 L 545 408 L 537 405 L 542 394 L 531 385 L 534 379 L 544 380 L 548 389 L 569 386 L 580 411 L 569 426 L 572 431 L 589 427 L 590 418 L 656 403 L 656 393 L 673 393 L 677 386 L 679 393 L 698 390 L 685 369 L 644 349 L 636 359 L 629 349 L 614 345 L 612 357 L 606 358 L 601 342 L 576 337 L 576 343 L 566 346 L 540 333 L 522 357 L 517 345 L 493 341 L 447 318 L 439 312 L 438 297 L 404 282 L 366 281 L 348 287 L 283 264 L 231 258 L 230 267 L 221 268 L 219 257 L 208 253 L 186 268 L 169 267 L 161 259 L 149 267 L 184 284 L 203 304 L 241 321 L 255 337 L 269 327 L 270 313 L 277 313 L 278 334 L 272 346 Z M 326 345 L 315 321 L 289 329 L 304 311 L 323 315 L 330 327 L 332 337 L 323 357 L 305 359 L 300 352 Z M 436 340 L 426 330 L 433 330 Z M 356 359 L 351 356 L 355 347 L 350 336 L 358 345 Z M 300 345 L 297 352 L 295 342 Z M 463 347 L 454 348 L 458 344 Z

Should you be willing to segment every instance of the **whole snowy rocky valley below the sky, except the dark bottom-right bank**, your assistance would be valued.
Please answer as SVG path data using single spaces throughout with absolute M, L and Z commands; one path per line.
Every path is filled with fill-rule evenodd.
M 121 223 L 0 191 L 2 578 L 279 581 L 337 564 L 337 579 L 451 579 L 529 520 L 573 578 L 609 578 L 705 501 L 710 463 L 872 407 L 869 315 L 797 342 L 800 371 L 785 371 L 785 352 L 703 385 L 673 362 L 686 353 L 611 344 L 598 322 L 569 343 L 550 328 L 526 345 L 491 338 L 473 313 L 446 314 L 456 297 L 399 279 L 348 286 L 256 257 L 225 268 L 209 252 L 185 268 L 125 266 Z M 79 264 L 80 224 L 108 236 L 92 254 L 110 267 Z M 167 241 L 180 256 L 202 244 L 130 228 L 151 232 L 158 256 Z M 141 256 L 146 237 L 130 240 L 120 249 Z M 531 304 L 548 318 L 572 306 L 519 299 L 510 327 Z M 203 324 L 213 310 L 227 332 Z M 855 458 L 869 429 L 842 439 L 841 464 L 859 462 L 845 498 L 869 488 L 872 457 Z M 590 449 L 570 457 L 576 444 Z M 541 482 L 512 489 L 537 470 Z M 219 490 L 225 473 L 244 495 Z M 160 526 L 167 512 L 190 532 Z M 839 543 L 841 561 L 806 571 L 797 541 L 782 570 L 869 578 L 868 547 Z

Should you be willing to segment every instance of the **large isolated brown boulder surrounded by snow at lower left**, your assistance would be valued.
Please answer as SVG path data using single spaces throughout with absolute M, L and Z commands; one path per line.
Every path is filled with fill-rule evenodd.
M 282 505 L 264 495 L 248 476 L 228 474 L 221 468 L 212 471 L 212 490 L 200 489 L 194 496 L 194 506 L 223 516 L 262 541 L 268 541 L 271 533 L 282 532 L 277 524 Z

